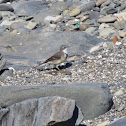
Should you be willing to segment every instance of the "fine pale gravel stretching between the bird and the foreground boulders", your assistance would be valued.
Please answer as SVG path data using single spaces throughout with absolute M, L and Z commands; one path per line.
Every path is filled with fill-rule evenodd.
M 112 46 L 109 46 L 112 45 Z M 16 71 L 13 77 L 7 77 L 1 86 L 71 84 L 84 82 L 104 82 L 110 87 L 114 105 L 110 111 L 82 124 L 97 126 L 107 121 L 111 123 L 126 116 L 126 46 L 125 42 L 114 45 L 106 42 L 99 51 L 84 54 L 71 62 L 72 65 L 61 71 L 54 69 L 30 69 Z M 50 66 L 48 66 L 49 68 Z M 116 95 L 118 94 L 118 95 Z

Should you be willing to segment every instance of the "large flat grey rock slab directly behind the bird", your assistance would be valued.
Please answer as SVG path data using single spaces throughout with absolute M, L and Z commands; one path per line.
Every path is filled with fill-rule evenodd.
M 39 31 L 37 34 L 26 34 L 24 31 L 20 31 L 19 28 L 17 30 L 22 34 L 4 34 L 1 36 L 1 45 L 4 47 L 10 45 L 14 49 L 14 51 L 4 49 L 4 54 L 18 55 L 33 60 L 44 61 L 56 53 L 63 44 L 70 46 L 68 54 L 69 56 L 74 56 L 85 54 L 91 47 L 104 42 L 103 39 L 96 38 L 95 36 L 92 37 L 83 31 L 47 32 L 46 30 L 46 32 Z M 21 43 L 21 46 L 14 46 L 19 45 L 19 43 Z M 50 45 L 50 47 L 47 45 Z

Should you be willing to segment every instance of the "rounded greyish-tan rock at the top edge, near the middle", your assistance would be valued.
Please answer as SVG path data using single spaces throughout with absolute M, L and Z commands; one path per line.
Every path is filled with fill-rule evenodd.
M 64 2 L 64 1 L 59 1 L 59 2 L 56 2 L 55 4 L 53 4 L 53 6 L 55 9 L 59 10 L 59 11 L 64 11 L 64 10 L 67 10 L 68 9 L 68 4 L 67 2 Z

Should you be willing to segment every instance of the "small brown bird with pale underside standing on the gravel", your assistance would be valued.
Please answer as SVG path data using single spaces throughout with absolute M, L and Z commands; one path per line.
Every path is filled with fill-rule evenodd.
M 57 70 L 60 70 L 57 65 L 66 61 L 68 57 L 67 48 L 68 48 L 67 45 L 62 45 L 60 47 L 60 50 L 57 53 L 55 53 L 53 56 L 51 56 L 50 58 L 45 60 L 43 63 L 39 64 L 38 66 L 45 63 L 50 63 L 50 64 L 53 64 Z

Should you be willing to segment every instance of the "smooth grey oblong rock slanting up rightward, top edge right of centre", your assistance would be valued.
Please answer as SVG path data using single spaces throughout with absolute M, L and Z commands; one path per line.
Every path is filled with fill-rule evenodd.
M 93 7 L 95 7 L 95 2 L 88 1 L 86 3 L 84 2 L 83 4 L 79 5 L 77 8 L 79 8 L 81 12 L 85 12 L 85 11 L 92 10 Z

